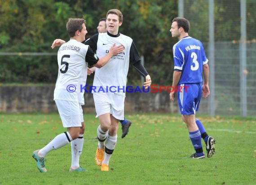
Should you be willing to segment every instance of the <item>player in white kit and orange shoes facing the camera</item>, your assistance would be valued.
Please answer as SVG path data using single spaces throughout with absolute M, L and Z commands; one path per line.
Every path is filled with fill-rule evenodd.
M 151 85 L 151 78 L 145 67 L 132 39 L 119 33 L 119 26 L 123 23 L 123 14 L 118 9 L 111 9 L 106 14 L 106 33 L 97 33 L 84 44 L 88 44 L 99 57 L 108 53 L 110 46 L 115 43 L 124 46 L 124 52 L 113 56 L 102 68 L 95 70 L 93 86 L 93 99 L 100 125 L 97 128 L 98 145 L 95 162 L 101 171 L 109 171 L 109 160 L 115 149 L 119 120 L 124 119 L 124 98 L 126 79 L 129 64 L 145 77 L 144 87 Z M 64 40 L 54 40 L 52 48 L 65 43 Z M 115 86 L 116 90 L 107 91 L 107 87 Z M 101 90 L 103 88 L 103 90 Z

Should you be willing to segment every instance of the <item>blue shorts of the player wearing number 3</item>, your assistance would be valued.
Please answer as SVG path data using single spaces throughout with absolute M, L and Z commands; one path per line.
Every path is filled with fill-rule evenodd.
M 202 96 L 202 84 L 178 84 L 177 100 L 181 115 L 195 115 Z

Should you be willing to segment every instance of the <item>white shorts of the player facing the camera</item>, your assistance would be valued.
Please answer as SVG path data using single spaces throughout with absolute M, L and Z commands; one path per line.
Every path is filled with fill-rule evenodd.
M 124 99 L 124 96 L 117 93 L 93 93 L 96 118 L 110 113 L 116 119 L 124 120 Z

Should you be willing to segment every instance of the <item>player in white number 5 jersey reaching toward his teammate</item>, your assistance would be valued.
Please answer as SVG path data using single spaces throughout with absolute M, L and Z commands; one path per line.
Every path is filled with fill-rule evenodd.
M 32 156 L 40 172 L 47 172 L 44 165 L 46 154 L 69 142 L 71 142 L 72 150 L 72 163 L 69 171 L 84 171 L 84 168 L 79 166 L 79 156 L 84 144 L 84 119 L 81 107 L 84 104 L 84 93 L 80 93 L 79 83 L 86 83 L 88 64 L 101 68 L 112 56 L 124 50 L 122 45 L 115 47 L 113 44 L 109 53 L 99 59 L 88 45 L 81 43 L 85 40 L 87 33 L 84 19 L 70 18 L 66 23 L 66 29 L 70 40 L 58 50 L 58 77 L 54 89 L 54 101 L 67 132 L 57 135 L 42 149 L 33 152 Z

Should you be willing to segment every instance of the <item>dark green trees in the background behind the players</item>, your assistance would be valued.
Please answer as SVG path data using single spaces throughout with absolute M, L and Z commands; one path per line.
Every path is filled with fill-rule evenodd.
M 203 1 L 189 1 L 185 8 L 188 16 L 198 15 L 197 21 L 188 18 L 193 25 L 191 36 L 207 42 L 208 34 L 202 33 L 208 33 L 208 26 L 205 26 L 208 7 L 202 5 Z M 239 14 L 228 17 L 230 11 L 239 11 L 239 2 L 215 0 L 216 41 L 239 40 Z M 247 7 L 247 38 L 255 40 L 255 1 L 247 0 Z M 169 30 L 172 18 L 178 14 L 177 0 L 0 0 L 0 52 L 57 53 L 57 48 L 52 50 L 50 46 L 56 38 L 69 39 L 66 34 L 68 18 L 86 19 L 89 38 L 97 33 L 98 20 L 105 17 L 109 9 L 120 9 L 124 14 L 119 31 L 133 38 L 145 57 L 153 83 L 172 84 L 172 46 L 177 40 L 171 38 Z M 57 78 L 57 56 L 0 55 L 0 65 L 1 83 L 55 83 Z M 132 67 L 128 84 L 140 85 L 140 76 Z

